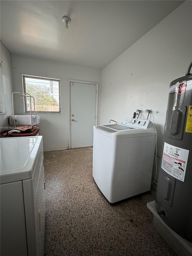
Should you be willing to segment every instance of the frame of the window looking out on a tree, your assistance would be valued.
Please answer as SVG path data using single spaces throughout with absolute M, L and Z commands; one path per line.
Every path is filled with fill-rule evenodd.
M 25 75 L 22 74 L 22 86 L 23 86 L 23 93 L 26 93 L 26 83 L 25 78 L 33 78 L 39 80 L 48 80 L 48 81 L 57 81 L 59 83 L 59 111 L 38 111 L 35 109 L 35 113 L 44 113 L 44 114 L 61 114 L 61 79 L 57 78 L 50 78 L 50 77 L 40 77 L 40 76 L 32 76 L 32 75 Z M 30 110 L 27 110 L 27 101 L 26 97 L 24 97 L 24 112 L 30 113 Z M 33 113 L 33 111 L 32 111 Z

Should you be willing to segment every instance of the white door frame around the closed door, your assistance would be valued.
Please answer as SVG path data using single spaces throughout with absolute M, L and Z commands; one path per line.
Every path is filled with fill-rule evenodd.
M 74 79 L 68 79 L 68 102 L 69 102 L 69 149 L 71 149 L 71 84 L 70 83 L 84 83 L 84 84 L 92 84 L 96 85 L 96 99 L 95 99 L 95 125 L 98 124 L 98 89 L 99 89 L 99 83 L 95 82 L 88 82 L 88 81 L 82 81 L 82 80 L 74 80 Z

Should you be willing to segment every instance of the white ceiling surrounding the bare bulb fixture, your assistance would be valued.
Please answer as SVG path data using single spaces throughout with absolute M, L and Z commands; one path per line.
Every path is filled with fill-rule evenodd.
M 183 2 L 1 0 L 1 42 L 13 54 L 103 69 Z

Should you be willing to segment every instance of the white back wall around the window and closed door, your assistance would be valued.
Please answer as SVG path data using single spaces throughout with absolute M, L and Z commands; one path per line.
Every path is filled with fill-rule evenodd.
M 39 125 L 41 128 L 41 135 L 43 135 L 44 139 L 45 150 L 68 148 L 68 79 L 97 82 L 99 83 L 100 93 L 101 70 L 85 68 L 76 65 L 69 65 L 63 62 L 33 59 L 18 55 L 12 55 L 11 57 L 13 67 L 13 86 L 15 92 L 22 92 L 22 74 L 61 79 L 61 114 L 38 113 L 38 115 L 40 116 Z M 17 103 L 16 111 L 19 114 L 19 108 Z M 100 118 L 99 115 L 98 118 Z

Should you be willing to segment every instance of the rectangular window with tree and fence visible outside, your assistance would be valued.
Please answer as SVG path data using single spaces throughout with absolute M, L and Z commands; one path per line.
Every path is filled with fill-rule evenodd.
M 35 99 L 35 112 L 61 113 L 60 80 L 46 77 L 22 75 L 23 91 Z M 34 111 L 33 98 L 31 101 Z M 25 98 L 25 112 L 30 112 L 30 98 Z

